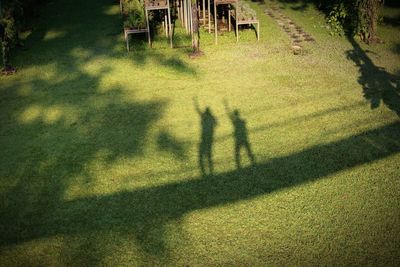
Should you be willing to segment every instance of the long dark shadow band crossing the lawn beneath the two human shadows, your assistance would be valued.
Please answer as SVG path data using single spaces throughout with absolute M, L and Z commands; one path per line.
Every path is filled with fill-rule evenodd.
M 19 228 L 2 228 L 1 246 L 115 231 L 126 233 L 146 253 L 168 255 L 166 225 L 189 212 L 250 200 L 384 159 L 400 152 L 399 140 L 397 122 L 252 167 L 215 174 L 212 179 L 188 177 L 184 182 L 106 196 L 60 199 L 51 210 L 27 213 L 20 218 L 23 225 Z

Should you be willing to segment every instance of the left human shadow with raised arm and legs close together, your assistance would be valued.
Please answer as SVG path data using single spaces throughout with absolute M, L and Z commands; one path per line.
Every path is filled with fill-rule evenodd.
M 212 175 L 214 165 L 212 161 L 212 145 L 214 141 L 214 129 L 217 126 L 217 120 L 211 113 L 211 109 L 206 107 L 204 111 L 200 109 L 197 98 L 193 98 L 194 107 L 200 115 L 201 140 L 199 143 L 199 166 L 203 176 Z M 204 161 L 208 163 L 208 174 Z

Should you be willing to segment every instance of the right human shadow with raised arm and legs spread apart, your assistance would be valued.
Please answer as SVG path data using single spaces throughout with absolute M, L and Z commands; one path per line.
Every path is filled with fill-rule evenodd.
M 233 137 L 235 138 L 235 162 L 236 167 L 238 169 L 241 168 L 240 162 L 240 150 L 244 148 L 247 152 L 247 155 L 250 159 L 252 165 L 255 164 L 254 154 L 251 151 L 249 138 L 248 138 L 248 131 L 246 128 L 246 121 L 240 117 L 239 110 L 235 109 L 231 111 L 229 108 L 228 102 L 224 101 L 224 106 L 226 113 L 228 114 L 229 119 L 232 122 L 233 126 Z

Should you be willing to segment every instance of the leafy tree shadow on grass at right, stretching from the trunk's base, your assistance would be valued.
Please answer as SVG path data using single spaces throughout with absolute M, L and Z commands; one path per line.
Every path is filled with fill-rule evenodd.
M 358 83 L 363 87 L 364 98 L 370 102 L 371 109 L 383 103 L 400 116 L 400 76 L 376 66 L 354 37 L 347 36 L 347 39 L 353 46 L 346 52 L 347 58 L 359 68 Z

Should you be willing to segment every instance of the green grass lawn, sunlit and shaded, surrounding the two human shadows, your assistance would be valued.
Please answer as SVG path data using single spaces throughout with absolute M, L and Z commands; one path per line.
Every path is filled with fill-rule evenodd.
M 250 3 L 259 42 L 202 31 L 195 60 L 179 27 L 180 48 L 127 53 L 113 1 L 44 5 L 0 77 L 0 265 L 398 266 L 400 9 L 366 46 L 274 3 L 316 39 L 301 55 L 269 1 Z M 213 176 L 194 97 L 218 120 Z M 255 166 L 235 167 L 224 100 Z

